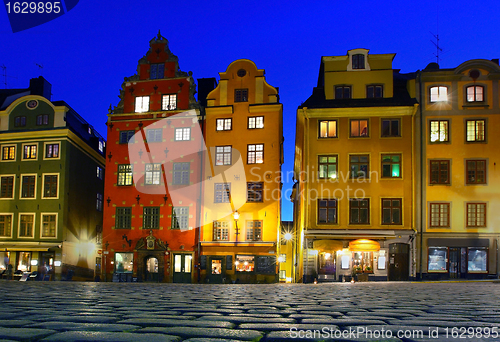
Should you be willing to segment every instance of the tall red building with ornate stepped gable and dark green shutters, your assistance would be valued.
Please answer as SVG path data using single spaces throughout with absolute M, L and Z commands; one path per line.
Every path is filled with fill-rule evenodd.
M 191 73 L 158 33 L 108 114 L 106 281 L 193 282 L 203 136 Z

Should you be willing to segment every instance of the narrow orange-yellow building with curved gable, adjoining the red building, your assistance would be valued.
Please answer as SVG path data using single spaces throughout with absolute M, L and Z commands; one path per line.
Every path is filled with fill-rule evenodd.
M 201 278 L 274 282 L 278 277 L 283 163 L 282 104 L 264 70 L 246 59 L 219 73 L 208 94 Z

